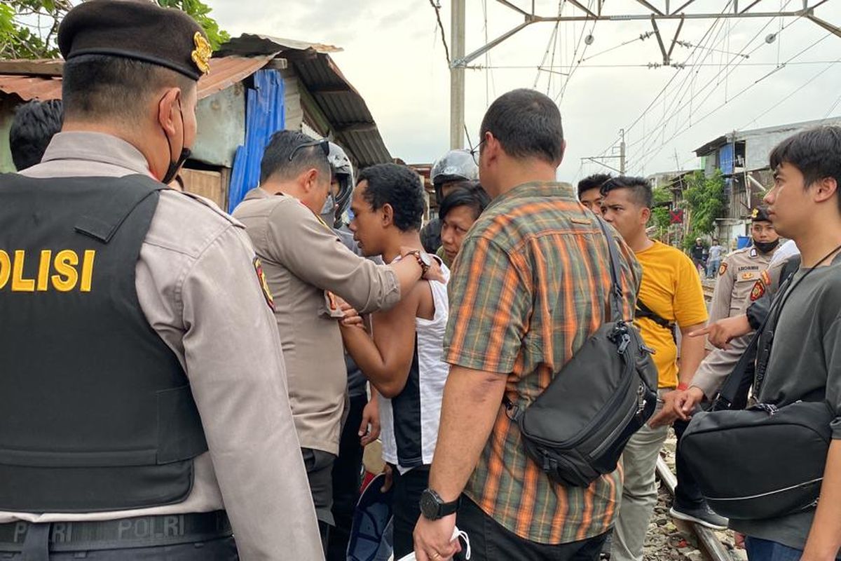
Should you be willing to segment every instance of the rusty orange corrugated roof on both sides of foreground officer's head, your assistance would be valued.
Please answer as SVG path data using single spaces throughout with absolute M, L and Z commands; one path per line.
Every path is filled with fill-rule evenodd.
M 272 56 L 224 56 L 210 60 L 210 73 L 198 81 L 198 98 L 204 99 L 233 86 L 266 66 Z M 50 61 L 55 64 L 55 61 Z M 2 69 L 0 69 L 2 71 Z M 22 76 L 0 73 L 0 91 L 24 101 L 61 99 L 61 77 Z

